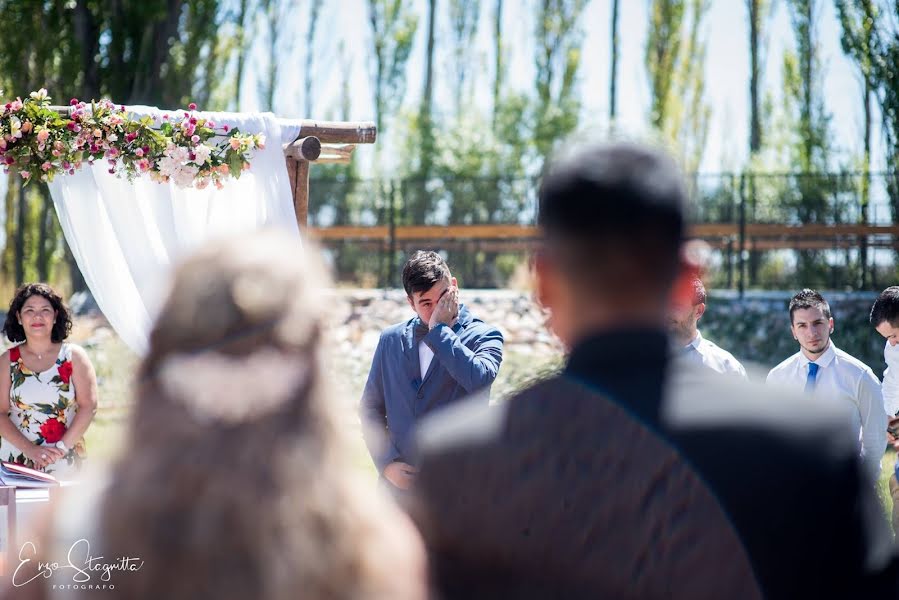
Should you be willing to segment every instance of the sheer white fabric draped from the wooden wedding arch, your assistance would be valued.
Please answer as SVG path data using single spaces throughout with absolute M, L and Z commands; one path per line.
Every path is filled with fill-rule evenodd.
M 136 115 L 181 112 L 128 107 Z M 266 144 L 250 156 L 250 169 L 223 189 L 181 189 L 148 176 L 129 182 L 98 161 L 50 184 L 56 214 L 100 310 L 122 340 L 142 354 L 153 317 L 167 291 L 173 264 L 211 238 L 261 227 L 299 231 L 282 143 L 293 141 L 299 122 L 271 113 L 201 113 L 216 126 L 262 133 Z

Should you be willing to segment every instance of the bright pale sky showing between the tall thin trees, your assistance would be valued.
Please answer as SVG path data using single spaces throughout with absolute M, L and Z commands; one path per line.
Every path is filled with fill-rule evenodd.
M 404 107 L 412 110 L 421 97 L 424 75 L 424 48 L 427 11 L 426 0 L 413 0 L 419 15 L 419 27 L 412 56 L 407 66 Z M 449 66 L 449 32 L 446 0 L 438 0 L 436 68 L 439 70 L 435 97 L 438 106 L 452 104 L 455 91 L 444 85 Z M 532 2 L 506 0 L 503 24 L 507 40 L 509 83 L 519 90 L 533 90 Z M 295 32 L 304 32 L 308 3 L 296 2 L 297 10 L 288 18 Z M 334 10 L 334 7 L 337 10 Z M 484 115 L 490 111 L 489 89 L 492 81 L 492 32 L 495 2 L 481 1 L 481 15 L 474 49 L 474 72 L 477 89 L 473 108 Z M 648 131 L 649 85 L 644 65 L 649 0 L 621 0 L 619 8 L 620 62 L 618 68 L 619 125 L 627 132 L 642 135 Z M 819 48 L 823 65 L 823 90 L 826 109 L 831 114 L 831 136 L 840 149 L 837 162 L 847 162 L 861 148 L 862 110 L 860 80 L 852 62 L 840 47 L 840 25 L 829 0 L 819 0 Z M 352 120 L 371 120 L 371 37 L 368 31 L 366 0 L 334 0 L 325 4 L 319 22 L 320 56 L 316 60 L 316 86 L 313 115 L 303 115 L 302 34 L 293 47 L 283 51 L 282 77 L 278 87 L 275 112 L 285 117 L 326 118 L 334 115 L 339 104 L 342 67 L 336 58 L 337 40 L 343 39 L 350 57 L 352 82 Z M 608 123 L 611 0 L 590 0 L 581 27 L 584 35 L 583 59 L 578 77 L 582 98 L 581 128 L 604 128 Z M 794 48 L 786 0 L 773 0 L 768 18 L 769 43 L 763 64 L 764 92 L 777 99 L 781 96 L 781 57 L 785 48 Z M 335 32 L 339 34 L 335 35 Z M 749 52 L 748 24 L 744 0 L 711 0 L 704 22 L 703 37 L 707 44 L 706 98 L 712 117 L 701 170 L 709 173 L 739 169 L 747 155 Z M 257 61 L 264 61 L 261 56 Z M 298 68 L 299 67 L 299 68 Z M 252 77 L 251 72 L 251 77 Z M 255 110 L 255 86 L 244 85 L 242 110 Z M 764 135 L 764 132 L 763 132 Z M 879 129 L 875 128 L 874 168 L 883 166 Z M 382 141 L 386 142 L 384 138 Z M 360 158 L 365 160 L 366 151 Z

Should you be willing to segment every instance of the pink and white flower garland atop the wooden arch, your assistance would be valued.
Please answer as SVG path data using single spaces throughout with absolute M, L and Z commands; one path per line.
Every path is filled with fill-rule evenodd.
M 91 103 L 72 99 L 68 117 L 50 108 L 41 88 L 24 101 L 16 98 L 0 112 L 0 164 L 26 181 L 52 181 L 74 174 L 85 163 L 106 160 L 109 172 L 127 177 L 148 174 L 181 188 L 217 188 L 250 167 L 249 154 L 265 147 L 265 136 L 216 126 L 199 116 L 197 106 L 180 119 L 131 118 L 124 106 L 109 100 Z

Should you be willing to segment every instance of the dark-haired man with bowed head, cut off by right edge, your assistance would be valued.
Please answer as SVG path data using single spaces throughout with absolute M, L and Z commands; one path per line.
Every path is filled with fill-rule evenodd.
M 887 441 L 895 447 L 899 438 L 899 286 L 890 286 L 880 293 L 871 307 L 871 325 L 886 338 L 883 360 L 883 408 L 889 415 Z M 899 464 L 897 464 L 899 468 Z M 890 496 L 893 498 L 893 531 L 899 533 L 899 481 L 896 472 L 890 477 Z

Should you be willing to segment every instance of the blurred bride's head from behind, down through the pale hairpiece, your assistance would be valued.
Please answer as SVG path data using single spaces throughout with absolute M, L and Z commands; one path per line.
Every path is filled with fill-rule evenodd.
M 141 380 L 153 398 L 139 402 L 138 421 L 175 411 L 189 438 L 222 428 L 308 433 L 310 419 L 313 430 L 327 426 L 319 352 L 326 284 L 315 249 L 304 253 L 274 231 L 187 259 L 150 334 Z

